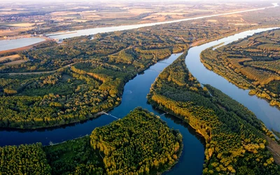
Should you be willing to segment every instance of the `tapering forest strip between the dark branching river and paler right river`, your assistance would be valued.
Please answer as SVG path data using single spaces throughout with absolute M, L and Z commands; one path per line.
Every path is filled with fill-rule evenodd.
M 151 87 L 148 102 L 189 123 L 206 141 L 203 174 L 279 174 L 267 150 L 272 132 L 243 105 L 188 71 L 185 52 Z

